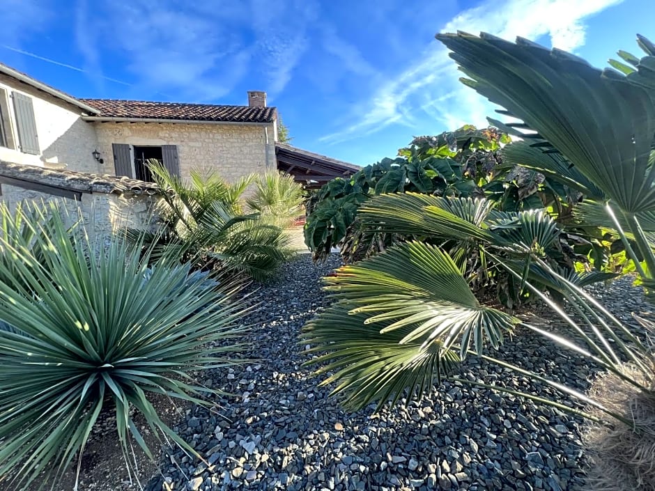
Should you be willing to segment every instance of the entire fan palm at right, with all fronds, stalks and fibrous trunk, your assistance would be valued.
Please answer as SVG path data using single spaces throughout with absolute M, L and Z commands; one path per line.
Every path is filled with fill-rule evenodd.
M 584 196 L 573 218 L 582 226 L 601 227 L 602 240 L 606 233 L 620 237 L 647 292 L 654 290 L 655 45 L 639 37 L 645 57 L 619 53 L 626 63 L 612 63 L 617 70 L 597 70 L 576 56 L 521 38 L 516 43 L 487 34 L 437 38 L 469 77 L 463 79 L 467 86 L 504 107 L 502 114 L 521 120 L 512 125 L 491 120 L 507 132 L 521 130 L 522 140 L 502 149 L 504 162 L 539 171 Z M 346 405 L 364 407 L 420 396 L 443 377 L 484 386 L 453 370 L 463 357 L 477 355 L 578 400 L 576 406 L 505 387 L 502 381 L 484 386 L 596 423 L 586 439 L 594 458 L 590 488 L 653 489 L 655 361 L 649 336 L 655 326 L 639 318 L 637 327 L 619 321 L 580 288 L 588 275 L 580 278 L 553 264 L 547 249 L 556 226 L 545 211 L 510 218 L 484 210 L 483 201 L 464 205 L 461 198 L 419 194 L 367 201 L 359 212 L 362 221 L 380 232 L 420 240 L 344 266 L 326 280 L 334 303 L 302 334 L 310 352 L 319 354 L 309 363 L 321 364 L 317 373 L 329 374 L 323 383 L 335 382 L 334 393 Z M 459 243 L 484 243 L 493 267 L 542 299 L 568 332 L 550 323 L 532 325 L 481 302 L 462 267 L 469 256 L 461 253 L 463 247 L 452 246 Z M 576 316 L 570 317 L 544 287 L 566 300 Z M 603 371 L 594 390 L 580 393 L 486 354 L 485 345 L 497 348 L 516 325 Z

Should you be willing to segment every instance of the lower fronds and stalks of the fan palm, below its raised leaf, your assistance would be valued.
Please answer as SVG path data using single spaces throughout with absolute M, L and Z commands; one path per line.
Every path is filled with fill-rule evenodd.
M 516 217 L 498 214 L 495 221 L 485 221 L 489 214 L 485 205 L 484 201 L 420 194 L 381 195 L 364 205 L 361 213 L 369 224 L 423 235 L 440 244 L 483 241 L 484 254 L 495 267 L 572 322 L 586 345 L 582 348 L 480 304 L 462 274 L 463 268 L 442 247 L 425 242 L 399 244 L 327 277 L 326 288 L 332 292 L 334 303 L 308 322 L 301 335 L 302 342 L 311 345 L 310 352 L 321 353 L 309 363 L 325 363 L 318 374 L 332 373 L 323 383 L 337 382 L 333 393 L 345 396 L 348 407 L 364 407 L 374 400 L 379 404 L 395 401 L 406 395 L 406 390 L 415 394 L 430 391 L 433 380 L 452 377 L 449 368 L 468 354 L 481 356 L 486 344 L 498 348 L 504 335 L 517 324 L 586 352 L 611 371 L 618 371 L 620 359 L 645 366 L 641 359 L 647 348 L 580 289 L 585 281 L 607 276 L 569 277 L 548 263 L 544 246 L 557 237 L 552 220 L 543 212 L 523 212 Z M 557 290 L 590 325 L 585 328 L 573 322 L 538 286 Z M 625 338 L 629 343 L 623 341 Z M 617 343 L 618 348 L 610 343 Z M 498 359 L 485 358 L 510 368 Z M 594 405 L 582 393 L 531 375 Z M 523 395 L 535 398 L 529 393 Z M 608 413 L 624 420 L 620 414 Z

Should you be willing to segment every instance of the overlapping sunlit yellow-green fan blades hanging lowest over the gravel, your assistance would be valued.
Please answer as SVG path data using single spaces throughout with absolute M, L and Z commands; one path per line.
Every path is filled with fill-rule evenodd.
M 452 258 L 421 242 L 341 267 L 326 281 L 337 303 L 307 323 L 302 342 L 327 352 L 317 360 L 329 361 L 321 372 L 339 370 L 328 380 L 341 380 L 337 392 L 356 407 L 431 390 L 441 367 L 471 344 L 497 348 L 516 322 L 479 304 Z

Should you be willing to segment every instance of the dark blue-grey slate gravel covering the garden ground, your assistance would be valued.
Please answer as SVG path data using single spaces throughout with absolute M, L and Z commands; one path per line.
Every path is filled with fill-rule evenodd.
M 585 457 L 580 421 L 550 407 L 504 397 L 469 385 L 446 383 L 407 407 L 346 413 L 327 398 L 329 388 L 301 366 L 302 325 L 325 305 L 321 276 L 337 267 L 334 256 L 313 265 L 302 255 L 279 281 L 259 290 L 261 323 L 245 339 L 243 357 L 256 359 L 210 375 L 233 396 L 215 413 L 187 412 L 177 430 L 206 456 L 210 467 L 182 451 L 166 455 L 160 490 L 583 490 Z M 643 310 L 629 279 L 612 286 L 612 307 Z M 619 294 L 620 293 L 620 294 Z M 592 373 L 583 359 L 517 333 L 502 357 L 585 389 Z M 521 390 L 548 387 L 477 359 L 463 377 Z

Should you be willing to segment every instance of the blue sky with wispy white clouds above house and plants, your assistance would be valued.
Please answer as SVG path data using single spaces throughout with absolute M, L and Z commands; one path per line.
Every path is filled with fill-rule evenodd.
M 77 97 L 246 104 L 293 145 L 366 165 L 485 124 L 439 31 L 524 36 L 604 66 L 655 40 L 653 0 L 1 0 L 0 61 Z

